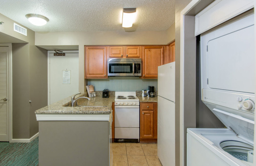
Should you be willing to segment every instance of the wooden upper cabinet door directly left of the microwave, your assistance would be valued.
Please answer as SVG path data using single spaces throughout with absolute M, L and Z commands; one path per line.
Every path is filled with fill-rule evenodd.
M 84 78 L 108 78 L 106 50 L 107 47 L 85 47 Z

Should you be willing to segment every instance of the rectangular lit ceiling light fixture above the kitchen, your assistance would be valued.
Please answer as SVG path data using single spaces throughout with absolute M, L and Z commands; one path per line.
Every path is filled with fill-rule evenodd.
M 136 8 L 124 8 L 123 12 L 123 24 L 122 27 L 132 27 L 133 22 L 136 18 Z

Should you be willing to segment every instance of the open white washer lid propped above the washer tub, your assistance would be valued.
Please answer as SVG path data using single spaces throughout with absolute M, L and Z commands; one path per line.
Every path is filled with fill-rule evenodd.
M 216 108 L 212 109 L 212 112 L 239 138 L 253 144 L 254 121 Z

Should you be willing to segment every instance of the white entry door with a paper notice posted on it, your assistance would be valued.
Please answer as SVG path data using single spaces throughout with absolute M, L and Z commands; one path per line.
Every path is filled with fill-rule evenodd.
M 78 92 L 78 50 L 48 51 L 48 105 Z

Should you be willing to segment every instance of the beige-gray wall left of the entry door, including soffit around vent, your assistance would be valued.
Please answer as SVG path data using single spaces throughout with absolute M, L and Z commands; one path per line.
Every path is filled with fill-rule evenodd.
M 0 20 L 0 43 L 12 43 L 12 138 L 29 139 L 38 132 L 34 111 L 47 105 L 47 50 L 35 46 L 34 31 L 25 36 L 12 19 Z

